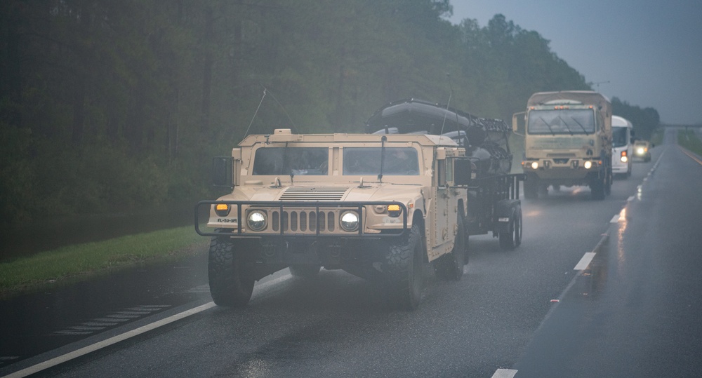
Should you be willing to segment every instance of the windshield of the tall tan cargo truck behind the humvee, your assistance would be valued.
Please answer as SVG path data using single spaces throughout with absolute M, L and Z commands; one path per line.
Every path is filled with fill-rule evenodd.
M 595 112 L 590 109 L 532 110 L 527 123 L 529 134 L 595 133 Z

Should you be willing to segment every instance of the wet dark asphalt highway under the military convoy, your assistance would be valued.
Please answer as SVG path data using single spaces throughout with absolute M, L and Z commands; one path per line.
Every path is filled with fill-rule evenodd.
M 37 375 L 696 376 L 702 162 L 674 137 L 604 201 L 587 188 L 524 201 L 522 246 L 470 238 L 463 279 L 428 270 L 416 311 L 388 311 L 342 271 L 314 281 L 281 271 L 257 283 L 246 309 L 207 306 Z M 586 252 L 588 269 L 574 269 Z M 205 265 L 202 255 L 3 303 L 0 375 L 208 304 Z

